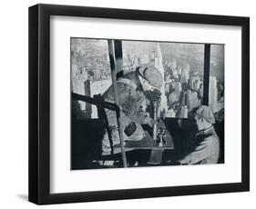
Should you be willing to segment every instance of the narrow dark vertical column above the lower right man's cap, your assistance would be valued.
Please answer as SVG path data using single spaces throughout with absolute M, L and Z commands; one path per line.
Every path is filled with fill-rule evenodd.
M 204 68 L 203 68 L 203 104 L 209 105 L 210 85 L 210 44 L 204 45 Z

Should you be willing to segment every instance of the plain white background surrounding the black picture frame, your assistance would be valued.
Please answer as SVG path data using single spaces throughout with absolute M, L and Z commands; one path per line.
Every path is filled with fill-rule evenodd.
M 36 208 L 27 198 L 27 7 L 38 3 L 33 0 L 9 0 L 1 2 L 0 38 L 0 207 Z M 162 10 L 172 12 L 202 13 L 214 15 L 251 16 L 251 107 L 256 105 L 255 90 L 255 5 L 250 0 L 203 1 L 203 0 L 158 0 L 158 1 L 106 1 L 106 0 L 51 0 L 48 4 L 90 5 L 130 9 Z M 253 82 L 252 82 L 253 81 Z M 253 96 L 254 95 L 254 96 Z M 241 208 L 250 207 L 256 201 L 256 111 L 251 108 L 251 192 L 236 194 L 208 194 L 185 197 L 165 197 L 155 199 L 126 200 L 89 204 L 65 204 L 62 208 Z M 254 130 L 253 130 L 254 129 Z M 60 205 L 51 205 L 58 208 Z

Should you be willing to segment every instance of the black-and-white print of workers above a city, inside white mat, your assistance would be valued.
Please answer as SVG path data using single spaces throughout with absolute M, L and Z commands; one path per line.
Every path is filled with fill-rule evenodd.
M 224 50 L 70 37 L 71 170 L 224 164 Z

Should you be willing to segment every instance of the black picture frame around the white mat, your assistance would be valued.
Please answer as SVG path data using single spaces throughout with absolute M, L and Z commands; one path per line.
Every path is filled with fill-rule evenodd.
M 50 194 L 50 16 L 241 26 L 241 183 Z M 250 18 L 73 5 L 29 7 L 29 201 L 65 204 L 250 190 Z

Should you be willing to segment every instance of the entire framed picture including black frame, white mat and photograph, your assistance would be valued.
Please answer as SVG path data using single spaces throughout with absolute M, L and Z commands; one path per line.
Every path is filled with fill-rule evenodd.
M 138 4 L 29 7 L 29 202 L 250 191 L 250 17 Z

